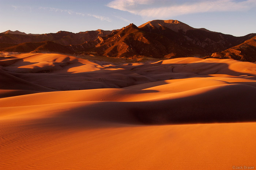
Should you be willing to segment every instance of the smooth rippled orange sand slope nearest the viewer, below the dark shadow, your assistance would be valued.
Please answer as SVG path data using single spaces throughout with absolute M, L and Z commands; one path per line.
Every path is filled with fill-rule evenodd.
M 232 169 L 255 166 L 255 123 L 62 126 L 2 121 L 0 168 Z

